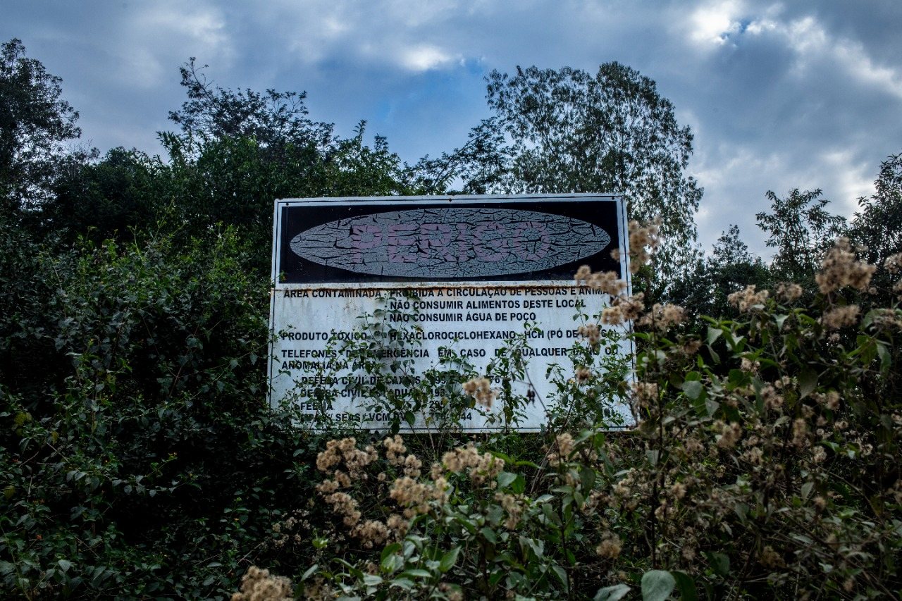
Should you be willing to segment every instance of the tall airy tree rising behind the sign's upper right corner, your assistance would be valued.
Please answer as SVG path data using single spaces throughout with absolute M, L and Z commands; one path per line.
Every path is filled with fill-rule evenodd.
M 457 176 L 466 192 L 622 192 L 630 218 L 662 219 L 659 275 L 692 253 L 703 191 L 686 175 L 693 136 L 654 81 L 617 62 L 594 76 L 518 67 L 492 71 L 487 98 L 494 115 L 464 147 L 420 163 L 435 180 Z

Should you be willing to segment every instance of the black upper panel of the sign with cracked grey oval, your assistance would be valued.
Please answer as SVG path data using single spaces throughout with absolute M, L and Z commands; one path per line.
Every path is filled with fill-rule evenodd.
M 612 199 L 307 204 L 281 208 L 282 283 L 572 280 L 620 273 Z

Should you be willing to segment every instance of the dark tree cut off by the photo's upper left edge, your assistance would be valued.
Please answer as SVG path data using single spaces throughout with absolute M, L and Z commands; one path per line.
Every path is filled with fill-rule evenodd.
M 64 143 L 78 138 L 78 113 L 61 79 L 25 57 L 21 40 L 0 46 L 0 211 L 38 208 L 50 196 Z

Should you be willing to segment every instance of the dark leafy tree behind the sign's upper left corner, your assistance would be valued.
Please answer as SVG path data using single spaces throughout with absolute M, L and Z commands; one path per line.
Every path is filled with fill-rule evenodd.
M 419 191 L 385 138 L 364 143 L 365 121 L 342 138 L 308 118 L 303 92 L 219 88 L 203 69 L 194 59 L 180 69 L 188 100 L 170 112 L 180 133 L 161 134 L 170 158 L 161 193 L 192 232 L 239 227 L 260 273 L 270 269 L 274 199 Z

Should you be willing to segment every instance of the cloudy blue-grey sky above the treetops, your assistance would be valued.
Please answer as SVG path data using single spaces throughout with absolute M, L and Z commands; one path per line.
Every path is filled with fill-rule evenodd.
M 695 134 L 689 171 L 710 248 L 755 226 L 765 193 L 824 190 L 851 216 L 902 152 L 902 2 L 842 0 L 0 0 L 0 40 L 63 79 L 83 140 L 158 153 L 197 57 L 223 88 L 306 90 L 311 117 L 365 119 L 407 162 L 489 116 L 484 76 L 517 65 L 591 72 L 618 60 L 658 82 Z M 599 190 L 606 191 L 606 190 Z

